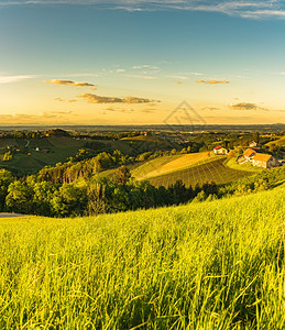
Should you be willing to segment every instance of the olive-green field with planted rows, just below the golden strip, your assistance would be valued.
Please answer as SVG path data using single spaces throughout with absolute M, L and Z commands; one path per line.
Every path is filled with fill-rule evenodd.
M 223 164 L 224 157 L 212 162 L 205 162 L 197 166 L 191 166 L 185 169 L 172 172 L 168 174 L 149 178 L 150 183 L 155 186 L 168 187 L 182 179 L 186 186 L 202 185 L 208 182 L 213 182 L 217 185 L 228 184 L 239 178 L 252 175 L 250 172 L 238 170 L 230 168 Z

